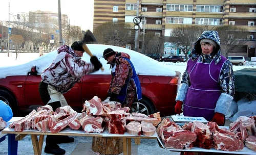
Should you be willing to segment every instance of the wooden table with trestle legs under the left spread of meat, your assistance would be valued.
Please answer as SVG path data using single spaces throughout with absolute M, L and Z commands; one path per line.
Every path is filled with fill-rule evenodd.
M 90 137 L 117 137 L 117 138 L 122 138 L 123 139 L 123 154 L 125 155 L 131 155 L 132 154 L 132 144 L 131 144 L 131 139 L 134 138 L 135 144 L 139 145 L 140 144 L 140 139 L 157 139 L 157 134 L 155 133 L 153 136 L 135 136 L 135 135 L 129 135 L 125 133 L 124 135 L 116 135 L 116 134 L 110 134 L 108 131 L 105 130 L 103 133 L 90 133 L 86 134 L 84 131 L 81 130 L 72 130 L 71 128 L 67 127 L 64 130 L 58 132 L 58 133 L 42 133 L 36 130 L 25 130 L 23 132 L 14 132 L 14 128 L 5 128 L 2 131 L 3 134 L 18 134 L 20 136 L 19 140 L 24 138 L 26 135 L 31 136 L 31 141 L 33 144 L 33 149 L 34 149 L 34 154 L 41 154 L 42 152 L 42 144 L 44 143 L 44 136 L 45 135 L 62 135 L 62 136 L 90 136 Z M 37 136 L 39 135 L 39 139 Z

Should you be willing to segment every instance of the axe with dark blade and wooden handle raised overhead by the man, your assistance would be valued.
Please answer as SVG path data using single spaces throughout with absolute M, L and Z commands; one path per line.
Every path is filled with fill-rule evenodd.
M 86 51 L 86 53 L 92 58 L 93 54 L 91 53 L 90 49 L 87 47 L 86 43 L 97 41 L 97 39 L 95 38 L 95 36 L 90 30 L 87 30 L 83 36 L 82 41 L 83 41 L 83 44 L 82 44 L 83 50 Z M 104 67 L 100 67 L 100 69 L 103 71 Z

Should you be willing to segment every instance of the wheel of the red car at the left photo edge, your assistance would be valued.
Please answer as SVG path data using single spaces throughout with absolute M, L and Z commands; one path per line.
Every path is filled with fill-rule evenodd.
M 0 90 L 0 100 L 3 100 L 7 105 L 9 105 L 12 109 L 13 116 L 16 116 L 17 104 L 15 97 L 7 90 Z

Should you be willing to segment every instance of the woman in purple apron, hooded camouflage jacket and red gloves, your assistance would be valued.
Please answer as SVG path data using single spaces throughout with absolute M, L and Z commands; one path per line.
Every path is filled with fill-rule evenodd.
M 205 31 L 197 39 L 176 97 L 177 114 L 204 117 L 218 125 L 224 125 L 225 116 L 232 115 L 233 69 L 220 52 L 217 31 Z

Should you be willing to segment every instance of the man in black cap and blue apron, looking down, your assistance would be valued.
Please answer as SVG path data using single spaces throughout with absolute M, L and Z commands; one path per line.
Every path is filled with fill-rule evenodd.
M 108 90 L 110 101 L 118 101 L 122 107 L 131 109 L 134 100 L 140 100 L 142 94 L 139 77 L 130 56 L 107 48 L 103 57 L 111 65 L 111 83 Z

